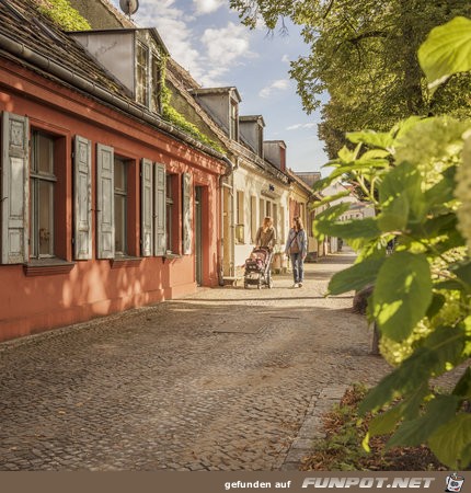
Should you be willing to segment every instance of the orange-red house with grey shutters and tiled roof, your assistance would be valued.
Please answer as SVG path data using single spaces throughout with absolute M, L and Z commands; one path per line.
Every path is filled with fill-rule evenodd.
M 147 90 L 30 0 L 2 1 L 0 341 L 218 283 L 225 158 Z

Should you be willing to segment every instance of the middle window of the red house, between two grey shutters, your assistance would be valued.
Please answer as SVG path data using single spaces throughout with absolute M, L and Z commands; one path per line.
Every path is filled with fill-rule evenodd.
M 115 254 L 126 255 L 127 249 L 127 164 L 122 158 L 114 160 Z

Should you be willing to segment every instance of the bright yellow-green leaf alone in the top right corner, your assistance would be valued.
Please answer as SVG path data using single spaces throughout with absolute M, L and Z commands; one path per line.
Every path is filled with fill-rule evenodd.
M 450 76 L 471 70 L 471 20 L 458 16 L 430 31 L 418 62 L 434 92 Z

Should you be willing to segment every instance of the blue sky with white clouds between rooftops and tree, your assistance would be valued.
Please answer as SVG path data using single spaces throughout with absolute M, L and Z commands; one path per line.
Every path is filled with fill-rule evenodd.
M 111 1 L 119 9 L 119 0 Z M 171 57 L 204 88 L 236 87 L 239 114 L 263 116 L 264 139 L 286 142 L 288 168 L 321 171 L 328 158 L 317 136 L 320 115 L 302 111 L 288 73 L 289 61 L 308 53 L 299 27 L 288 22 L 285 35 L 263 25 L 251 31 L 229 0 L 139 0 L 131 19 L 156 27 Z

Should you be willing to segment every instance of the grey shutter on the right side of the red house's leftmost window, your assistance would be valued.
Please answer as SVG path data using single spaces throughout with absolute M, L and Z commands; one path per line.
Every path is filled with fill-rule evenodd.
M 76 136 L 73 150 L 73 254 L 77 260 L 92 257 L 92 142 Z

